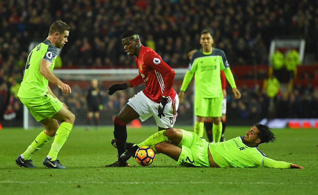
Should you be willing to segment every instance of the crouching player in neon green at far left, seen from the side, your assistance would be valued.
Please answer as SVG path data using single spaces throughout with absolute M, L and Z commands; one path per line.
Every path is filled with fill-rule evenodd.
M 49 36 L 38 44 L 28 56 L 18 97 L 45 130 L 35 138 L 26 151 L 17 157 L 16 163 L 19 166 L 35 168 L 36 166 L 32 164 L 31 160 L 32 154 L 55 136 L 43 165 L 55 169 L 66 168 L 60 164 L 57 155 L 72 130 L 75 116 L 53 94 L 48 82 L 57 85 L 66 95 L 71 93 L 70 86 L 52 73 L 57 48 L 61 48 L 67 43 L 70 30 L 71 27 L 66 23 L 60 20 L 54 22 L 50 27 Z M 61 122 L 60 125 L 58 121 Z

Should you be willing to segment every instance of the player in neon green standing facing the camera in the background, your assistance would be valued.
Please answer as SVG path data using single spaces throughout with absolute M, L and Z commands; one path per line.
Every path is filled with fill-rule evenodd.
M 194 125 L 194 132 L 200 137 L 203 136 L 204 120 L 212 117 L 213 120 L 213 142 L 220 141 L 222 134 L 222 85 L 220 70 L 224 71 L 225 77 L 232 87 L 235 99 L 241 94 L 236 88 L 234 77 L 230 70 L 229 63 L 223 50 L 212 47 L 213 38 L 209 30 L 201 32 L 200 44 L 202 49 L 193 53 L 189 64 L 189 71 L 183 78 L 179 93 L 179 101 L 182 102 L 184 91 L 187 89 L 193 74 L 195 74 L 196 94 L 194 100 L 194 114 L 197 121 Z

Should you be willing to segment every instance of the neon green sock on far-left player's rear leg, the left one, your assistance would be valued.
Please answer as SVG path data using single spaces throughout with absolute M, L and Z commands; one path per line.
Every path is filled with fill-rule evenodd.
M 44 131 L 42 131 L 40 134 L 38 134 L 38 136 L 31 143 L 31 145 L 29 145 L 29 147 L 26 149 L 26 151 L 23 152 L 24 160 L 30 160 L 32 154 L 34 154 L 36 151 L 40 150 L 46 143 L 48 143 L 53 138 L 53 137 L 46 135 L 44 133 Z

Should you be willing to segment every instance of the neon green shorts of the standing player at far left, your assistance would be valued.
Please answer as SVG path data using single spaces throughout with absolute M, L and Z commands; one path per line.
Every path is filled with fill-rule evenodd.
M 54 98 L 51 94 L 39 98 L 20 98 L 31 115 L 37 120 L 51 118 L 54 114 L 61 110 L 63 103 L 58 98 Z

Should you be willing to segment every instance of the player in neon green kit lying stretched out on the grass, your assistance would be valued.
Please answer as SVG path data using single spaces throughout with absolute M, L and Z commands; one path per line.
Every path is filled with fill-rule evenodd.
M 181 166 L 240 168 L 264 166 L 304 169 L 293 163 L 273 160 L 259 151 L 259 144 L 275 140 L 271 128 L 256 123 L 245 133 L 245 136 L 225 142 L 209 143 L 194 132 L 171 128 L 158 131 L 138 146 L 149 146 L 155 153 L 163 153 L 176 160 L 177 165 Z M 127 143 L 127 145 L 133 144 Z

